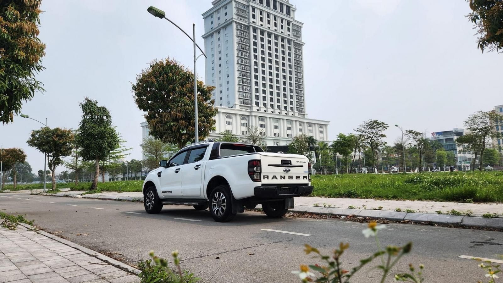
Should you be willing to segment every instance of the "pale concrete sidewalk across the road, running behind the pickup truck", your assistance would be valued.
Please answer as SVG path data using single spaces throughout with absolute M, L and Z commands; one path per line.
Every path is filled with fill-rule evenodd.
M 82 196 L 79 193 L 82 192 L 72 191 L 52 195 L 123 201 L 143 200 L 141 192 L 101 192 Z M 459 211 L 461 215 L 449 215 L 453 209 Z M 295 198 L 295 208 L 290 211 L 503 229 L 503 203 L 495 202 L 460 203 L 303 196 Z M 486 213 L 491 216 L 496 214 L 497 217 L 483 218 L 482 215 Z

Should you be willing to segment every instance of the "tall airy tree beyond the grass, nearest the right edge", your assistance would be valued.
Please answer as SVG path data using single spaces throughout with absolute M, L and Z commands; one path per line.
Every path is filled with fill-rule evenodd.
M 491 140 L 499 138 L 501 134 L 495 131 L 498 119 L 501 116 L 496 111 L 477 111 L 471 114 L 464 125 L 468 130 L 468 134 L 460 136 L 456 139 L 456 143 L 464 145 L 463 151 L 475 152 L 475 159 L 477 154 L 480 155 L 479 170 L 482 171 L 482 164 L 485 149 L 491 145 Z M 475 162 L 474 162 L 475 165 Z M 475 170 L 473 166 L 472 170 Z

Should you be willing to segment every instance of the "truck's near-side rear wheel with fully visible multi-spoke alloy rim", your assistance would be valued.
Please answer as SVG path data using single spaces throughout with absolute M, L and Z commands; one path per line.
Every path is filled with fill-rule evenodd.
M 211 217 L 216 222 L 228 222 L 236 216 L 235 213 L 232 213 L 232 197 L 227 186 L 214 188 L 209 199 Z

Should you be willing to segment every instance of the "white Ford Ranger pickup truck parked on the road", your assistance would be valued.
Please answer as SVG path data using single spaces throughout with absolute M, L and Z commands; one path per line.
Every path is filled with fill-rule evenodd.
M 243 206 L 262 204 L 269 217 L 282 217 L 294 207 L 293 197 L 309 195 L 309 160 L 303 155 L 265 153 L 261 147 L 240 143 L 200 142 L 159 162 L 143 183 L 147 213 L 163 204 L 210 207 L 217 222 L 227 222 Z

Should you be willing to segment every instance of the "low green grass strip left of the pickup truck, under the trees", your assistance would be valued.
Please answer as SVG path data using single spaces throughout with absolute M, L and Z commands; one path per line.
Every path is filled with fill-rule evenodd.
M 100 191 L 124 191 L 124 192 L 141 192 L 141 186 L 143 181 L 113 181 L 113 182 L 98 182 L 98 190 Z M 46 187 L 50 189 L 51 184 L 47 184 Z M 56 189 L 69 188 L 72 191 L 87 191 L 91 187 L 91 182 L 78 183 L 56 183 Z M 6 185 L 6 190 L 12 190 L 14 185 Z M 34 190 L 43 189 L 43 184 L 22 184 L 17 185 L 16 190 Z

